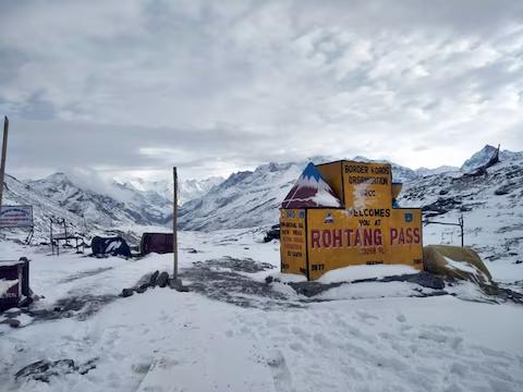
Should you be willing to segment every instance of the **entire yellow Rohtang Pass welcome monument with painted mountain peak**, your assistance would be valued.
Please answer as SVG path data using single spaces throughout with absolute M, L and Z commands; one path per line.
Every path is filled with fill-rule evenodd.
M 355 265 L 423 268 L 422 210 L 393 208 L 401 185 L 392 185 L 390 164 L 337 161 L 315 169 L 307 167 L 292 191 L 292 206 L 303 208 L 280 209 L 282 272 L 312 280 Z M 341 207 L 311 207 L 326 188 Z

